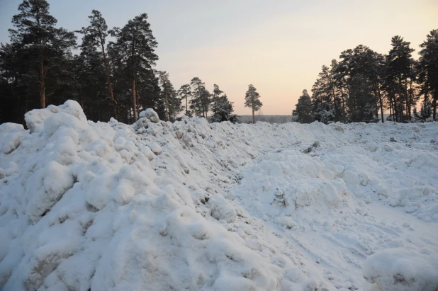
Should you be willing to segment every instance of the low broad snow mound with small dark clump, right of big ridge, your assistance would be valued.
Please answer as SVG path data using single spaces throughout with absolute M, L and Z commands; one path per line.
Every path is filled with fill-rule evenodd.
M 291 227 L 290 219 L 283 216 L 300 207 L 313 206 L 320 212 L 353 203 L 339 178 L 343 170 L 299 150 L 269 153 L 247 170 L 238 198 L 255 201 L 254 209 L 265 219 L 276 217 L 276 222 Z

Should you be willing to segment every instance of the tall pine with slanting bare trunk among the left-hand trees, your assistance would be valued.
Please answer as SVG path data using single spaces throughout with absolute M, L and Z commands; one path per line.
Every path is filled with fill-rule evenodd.
M 96 50 L 100 50 L 98 55 L 101 57 L 103 62 L 103 68 L 105 69 L 106 74 L 106 82 L 108 83 L 108 91 L 111 98 L 111 106 L 113 107 L 113 114 L 116 116 L 116 103 L 113 93 L 113 86 L 111 84 L 108 54 L 106 52 L 106 38 L 108 35 L 110 35 L 110 31 L 108 30 L 108 25 L 106 25 L 106 21 L 102 14 L 97 10 L 91 11 L 89 21 L 89 26 L 78 31 L 84 35 L 81 45 L 82 53 L 96 54 Z

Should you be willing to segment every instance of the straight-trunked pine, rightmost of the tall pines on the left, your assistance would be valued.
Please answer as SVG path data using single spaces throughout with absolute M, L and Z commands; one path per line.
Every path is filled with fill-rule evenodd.
M 112 30 L 117 41 L 114 50 L 122 54 L 122 62 L 125 64 L 125 71 L 130 75 L 131 93 L 133 100 L 133 120 L 137 120 L 140 102 L 138 101 L 136 81 L 140 74 L 147 74 L 147 71 L 155 66 L 158 56 L 155 54 L 157 42 L 152 35 L 150 23 L 147 22 L 147 14 L 142 13 L 128 21 L 122 29 Z

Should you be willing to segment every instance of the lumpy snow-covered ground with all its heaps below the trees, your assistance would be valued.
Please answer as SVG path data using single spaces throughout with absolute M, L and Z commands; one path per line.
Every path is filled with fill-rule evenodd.
M 437 290 L 437 122 L 140 117 L 0 125 L 1 290 Z

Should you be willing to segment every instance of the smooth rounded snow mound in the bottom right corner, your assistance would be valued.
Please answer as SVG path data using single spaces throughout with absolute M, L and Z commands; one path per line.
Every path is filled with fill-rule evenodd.
M 386 249 L 366 259 L 364 278 L 387 291 L 433 291 L 438 289 L 438 262 L 430 253 Z

